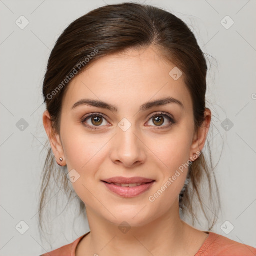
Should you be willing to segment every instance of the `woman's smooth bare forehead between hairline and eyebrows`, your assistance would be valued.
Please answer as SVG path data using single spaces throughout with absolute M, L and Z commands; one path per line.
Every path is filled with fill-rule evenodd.
M 173 68 L 152 48 L 104 56 L 70 81 L 63 105 L 70 109 L 76 101 L 91 98 L 138 109 L 146 101 L 169 96 L 189 109 L 192 100 L 183 75 L 173 79 Z

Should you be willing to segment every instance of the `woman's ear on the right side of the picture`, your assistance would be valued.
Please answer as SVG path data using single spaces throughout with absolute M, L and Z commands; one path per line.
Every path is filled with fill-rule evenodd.
M 204 147 L 207 134 L 210 127 L 210 121 L 211 121 L 211 111 L 209 108 L 205 108 L 204 111 L 204 121 L 201 125 L 201 127 L 198 128 L 198 131 L 195 132 L 193 141 L 191 144 L 190 149 L 190 160 L 194 161 L 196 160 L 199 155 L 201 154 L 201 151 Z

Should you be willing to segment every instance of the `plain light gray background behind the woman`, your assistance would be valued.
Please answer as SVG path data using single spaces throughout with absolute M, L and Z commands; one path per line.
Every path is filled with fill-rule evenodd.
M 77 209 L 71 205 L 60 214 L 67 216 L 64 220 L 55 217 L 50 223 L 52 247 L 38 234 L 38 186 L 45 156 L 41 150 L 47 140 L 42 81 L 50 51 L 64 28 L 94 8 L 121 2 L 0 0 L 0 255 L 39 255 L 89 231 L 82 218 L 73 227 Z M 213 231 L 256 247 L 256 1 L 146 3 L 184 20 L 208 54 L 206 96 L 216 117 L 212 117 L 211 144 L 223 207 Z M 23 29 L 15 23 L 21 23 L 22 15 L 29 22 Z M 27 127 L 20 126 L 22 118 Z M 20 221 L 29 227 L 24 234 L 20 230 L 25 224 Z M 203 225 L 196 227 L 205 230 Z

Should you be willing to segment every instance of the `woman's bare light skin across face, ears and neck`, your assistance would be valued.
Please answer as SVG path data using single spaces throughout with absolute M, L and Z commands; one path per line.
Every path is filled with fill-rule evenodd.
M 178 196 L 188 168 L 154 202 L 148 200 L 182 164 L 195 160 L 193 153 L 202 150 L 211 120 L 206 108 L 205 121 L 194 132 L 192 99 L 183 76 L 174 80 L 169 75 L 173 67 L 153 47 L 105 56 L 68 85 L 60 134 L 53 133 L 49 113 L 43 113 L 56 161 L 80 175 L 72 185 L 85 203 L 90 233 L 79 243 L 76 255 L 194 255 L 207 238 L 179 216 Z M 180 100 L 184 109 L 170 103 L 139 111 L 143 103 L 166 96 Z M 114 104 L 118 112 L 88 105 L 71 109 L 83 98 Z M 149 119 L 162 111 L 173 115 L 176 123 L 167 127 L 171 121 L 162 116 L 164 123 L 157 126 Z M 91 113 L 106 117 L 99 117 L 99 126 L 87 119 L 94 130 L 81 123 Z M 131 124 L 126 131 L 118 127 L 123 118 Z M 141 176 L 156 182 L 148 191 L 124 198 L 100 181 L 113 176 Z M 123 221 L 131 227 L 126 233 L 118 228 Z

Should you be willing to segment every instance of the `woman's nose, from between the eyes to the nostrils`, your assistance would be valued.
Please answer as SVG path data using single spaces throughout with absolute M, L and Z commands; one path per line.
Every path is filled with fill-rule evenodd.
M 124 167 L 135 167 L 145 162 L 146 152 L 142 136 L 135 125 L 124 131 L 118 127 L 110 152 L 111 160 Z

